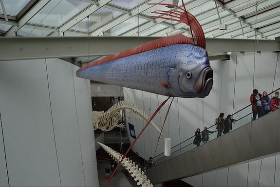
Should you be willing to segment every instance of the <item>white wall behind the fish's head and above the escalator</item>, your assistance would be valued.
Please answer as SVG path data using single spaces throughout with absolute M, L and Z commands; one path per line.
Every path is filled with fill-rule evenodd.
M 193 136 L 197 128 L 203 129 L 204 126 L 209 127 L 213 125 L 214 119 L 220 112 L 224 112 L 227 115 L 249 105 L 249 97 L 254 88 L 257 88 L 260 93 L 263 91 L 267 91 L 267 93 L 272 92 L 277 55 L 277 53 L 272 52 L 261 52 L 261 54 L 254 52 L 241 54 L 238 52 L 232 53 L 230 60 L 210 61 L 210 65 L 214 71 L 214 84 L 210 94 L 204 99 L 175 98 L 172 103 L 163 130 L 164 137 L 171 137 L 171 146 L 177 145 L 180 142 L 180 138 L 182 142 Z M 278 63 L 274 90 L 279 87 L 280 64 Z M 145 112 L 151 113 L 167 97 L 124 88 L 124 98 L 126 101 L 131 101 L 140 107 L 144 107 Z M 179 105 L 177 105 L 177 101 Z M 151 112 L 149 112 L 149 107 L 151 108 Z M 154 122 L 160 129 L 167 108 L 168 106 L 165 105 L 154 118 Z M 235 118 L 241 117 L 249 112 L 251 112 L 250 107 L 236 115 Z M 145 122 L 136 119 L 129 111 L 126 112 L 126 117 L 127 121 L 134 125 L 135 132 L 138 134 L 145 125 Z M 249 119 L 250 117 L 244 118 L 242 123 L 246 123 Z M 138 139 L 132 150 L 138 152 L 145 159 L 148 159 L 149 156 L 154 155 L 158 136 L 159 132 L 149 126 Z M 132 141 L 133 139 L 130 137 L 130 142 Z M 156 155 L 163 151 L 163 139 L 161 138 Z

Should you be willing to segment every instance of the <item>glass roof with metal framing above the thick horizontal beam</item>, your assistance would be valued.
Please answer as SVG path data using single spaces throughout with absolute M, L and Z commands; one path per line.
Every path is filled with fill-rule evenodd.
M 158 16 L 151 13 L 155 10 L 170 11 L 171 9 L 160 5 L 148 5 L 151 0 L 2 1 L 9 22 L 4 20 L 3 9 L 0 6 L 1 36 L 12 36 L 11 28 L 15 29 L 21 37 L 59 35 L 87 37 L 102 34 L 137 36 L 138 31 L 139 36 L 166 36 L 187 34 L 189 29 L 184 23 L 152 18 L 151 16 Z M 36 10 L 36 3 L 39 2 L 41 8 Z M 43 4 L 44 2 L 46 3 Z M 255 28 L 259 38 L 280 37 L 280 0 L 216 0 L 216 2 L 217 8 L 215 0 L 184 0 L 187 11 L 202 25 L 205 37 L 250 38 Z M 97 3 L 99 3 L 98 7 Z M 256 3 L 258 3 L 257 11 Z M 178 5 L 182 6 L 181 0 Z M 219 30 L 220 20 L 217 9 L 221 21 L 228 26 L 227 30 Z M 33 12 L 31 19 L 25 19 L 27 13 L 30 15 Z M 18 30 L 13 25 L 19 21 L 24 25 Z

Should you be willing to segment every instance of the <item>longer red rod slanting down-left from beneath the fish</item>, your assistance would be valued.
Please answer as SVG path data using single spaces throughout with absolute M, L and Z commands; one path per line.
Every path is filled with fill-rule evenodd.
M 168 97 L 169 99 L 170 97 Z M 108 186 L 108 184 L 110 183 L 112 176 L 115 174 L 115 172 L 117 171 L 117 169 L 119 168 L 119 166 L 121 165 L 122 161 L 125 159 L 126 155 L 128 154 L 128 152 L 131 150 L 131 148 L 133 147 L 133 145 L 135 144 L 135 142 L 138 140 L 138 138 L 141 136 L 141 134 L 145 131 L 145 129 L 148 127 L 150 121 L 154 118 L 154 116 L 157 114 L 157 112 L 159 112 L 159 110 L 163 107 L 163 105 L 168 101 L 168 99 L 166 99 L 164 102 L 162 102 L 162 104 L 160 104 L 160 106 L 155 110 L 155 112 L 153 112 L 153 114 L 150 116 L 149 121 L 146 123 L 145 127 L 142 129 L 142 131 L 137 135 L 137 137 L 134 139 L 134 141 L 131 143 L 131 146 L 129 147 L 129 149 L 126 151 L 126 153 L 124 154 L 124 156 L 122 157 L 121 161 L 118 163 L 117 167 L 114 169 L 114 171 L 112 172 L 110 178 L 108 179 L 105 187 Z

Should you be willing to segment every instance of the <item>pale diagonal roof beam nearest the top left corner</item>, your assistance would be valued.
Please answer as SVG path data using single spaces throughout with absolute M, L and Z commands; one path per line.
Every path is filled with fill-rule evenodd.
M 23 27 L 23 25 L 25 25 L 25 23 L 27 23 L 31 18 L 33 18 L 37 12 L 39 12 L 46 4 L 48 4 L 50 0 L 40 0 L 38 1 L 34 7 L 32 7 L 24 16 L 22 16 L 21 19 L 19 19 L 18 21 L 18 25 L 17 26 L 13 26 L 12 29 L 10 29 L 5 36 L 16 36 L 16 33 L 19 31 L 19 29 L 21 27 Z

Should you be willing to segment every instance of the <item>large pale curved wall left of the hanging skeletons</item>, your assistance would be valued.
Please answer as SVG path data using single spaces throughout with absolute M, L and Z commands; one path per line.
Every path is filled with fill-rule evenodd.
M 90 82 L 77 69 L 60 59 L 0 62 L 0 185 L 98 186 Z

